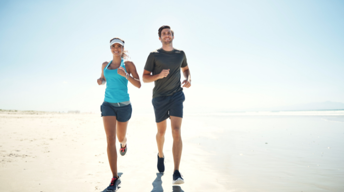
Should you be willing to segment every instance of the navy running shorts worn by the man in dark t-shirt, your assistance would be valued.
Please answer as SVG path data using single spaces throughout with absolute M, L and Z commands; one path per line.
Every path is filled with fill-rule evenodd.
M 182 91 L 172 96 L 158 96 L 152 99 L 155 113 L 155 122 L 166 120 L 170 116 L 183 118 L 183 102 L 185 100 Z

